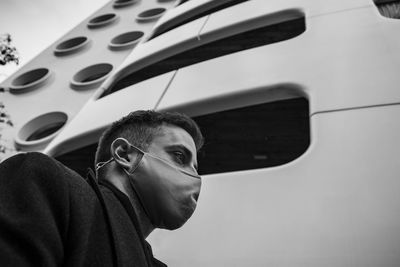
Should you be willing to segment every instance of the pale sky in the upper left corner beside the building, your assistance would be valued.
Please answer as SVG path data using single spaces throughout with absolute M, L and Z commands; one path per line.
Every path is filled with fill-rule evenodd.
M 0 0 L 0 34 L 11 34 L 20 64 L 0 65 L 0 82 L 110 0 Z

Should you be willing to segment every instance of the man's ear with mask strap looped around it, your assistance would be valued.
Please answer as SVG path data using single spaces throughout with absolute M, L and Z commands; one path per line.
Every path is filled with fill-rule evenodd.
M 111 156 L 124 169 L 129 170 L 136 159 L 136 151 L 125 138 L 117 138 L 111 144 Z

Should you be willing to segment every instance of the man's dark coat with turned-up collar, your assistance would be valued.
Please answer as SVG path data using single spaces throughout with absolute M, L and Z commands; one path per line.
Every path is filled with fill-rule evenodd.
M 124 194 L 27 153 L 0 164 L 0 266 L 165 265 Z

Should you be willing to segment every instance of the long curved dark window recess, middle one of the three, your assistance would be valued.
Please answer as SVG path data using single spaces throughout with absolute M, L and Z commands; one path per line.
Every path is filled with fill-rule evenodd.
M 157 63 L 144 67 L 123 77 L 114 85 L 112 85 L 107 91 L 105 91 L 101 97 L 112 94 L 152 77 L 199 62 L 251 48 L 289 40 L 303 33 L 305 29 L 305 18 L 303 16 L 212 41 L 163 59 Z

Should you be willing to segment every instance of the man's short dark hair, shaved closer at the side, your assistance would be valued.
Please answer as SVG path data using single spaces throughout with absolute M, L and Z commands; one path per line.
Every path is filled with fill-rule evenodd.
M 132 145 L 147 151 L 163 124 L 178 126 L 187 131 L 193 138 L 196 151 L 203 146 L 204 138 L 198 125 L 187 115 L 177 112 L 138 110 L 114 122 L 103 132 L 97 146 L 95 164 L 111 158 L 110 147 L 118 137 L 123 137 Z

